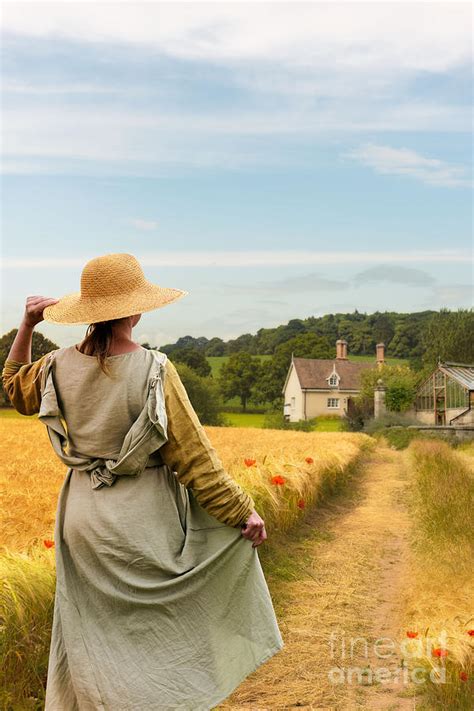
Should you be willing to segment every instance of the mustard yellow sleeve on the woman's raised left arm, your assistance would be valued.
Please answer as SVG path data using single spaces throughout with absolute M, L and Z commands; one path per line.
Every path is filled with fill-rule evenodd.
M 47 354 L 46 354 L 47 355 Z M 18 360 L 5 361 L 2 383 L 8 399 L 21 415 L 35 415 L 41 405 L 41 366 L 46 355 L 32 363 Z

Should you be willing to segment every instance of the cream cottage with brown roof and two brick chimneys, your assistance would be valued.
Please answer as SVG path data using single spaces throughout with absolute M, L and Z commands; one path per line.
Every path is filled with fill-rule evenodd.
M 347 358 L 347 341 L 336 341 L 335 358 L 291 357 L 285 384 L 283 412 L 290 422 L 307 420 L 318 415 L 347 414 L 351 397 L 360 392 L 361 374 L 381 367 L 385 362 L 385 346 L 376 345 L 374 363 L 360 363 Z

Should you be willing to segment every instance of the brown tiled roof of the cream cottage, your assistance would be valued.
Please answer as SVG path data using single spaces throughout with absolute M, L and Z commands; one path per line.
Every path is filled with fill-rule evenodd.
M 376 363 L 357 363 L 337 358 L 293 358 L 301 387 L 331 389 L 326 378 L 335 368 L 340 376 L 340 390 L 360 390 L 360 376 L 364 370 L 376 367 Z

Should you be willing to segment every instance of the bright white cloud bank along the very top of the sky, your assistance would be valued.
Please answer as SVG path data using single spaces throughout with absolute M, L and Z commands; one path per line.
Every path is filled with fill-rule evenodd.
M 5 2 L 5 31 L 301 69 L 446 71 L 471 55 L 469 3 Z

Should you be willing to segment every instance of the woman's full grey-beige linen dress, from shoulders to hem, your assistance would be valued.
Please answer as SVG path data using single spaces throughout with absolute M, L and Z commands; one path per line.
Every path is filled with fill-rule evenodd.
M 165 354 L 108 362 L 112 380 L 71 346 L 41 367 L 39 419 L 68 465 L 45 711 L 212 709 L 284 644 L 257 548 L 236 522 L 247 495 L 227 480 L 212 508 L 219 497 L 164 463 Z

